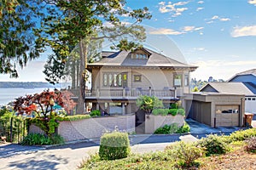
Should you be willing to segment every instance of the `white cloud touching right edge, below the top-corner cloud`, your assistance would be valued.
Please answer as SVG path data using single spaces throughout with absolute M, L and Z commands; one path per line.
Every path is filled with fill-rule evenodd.
M 256 26 L 235 27 L 231 37 L 256 36 Z

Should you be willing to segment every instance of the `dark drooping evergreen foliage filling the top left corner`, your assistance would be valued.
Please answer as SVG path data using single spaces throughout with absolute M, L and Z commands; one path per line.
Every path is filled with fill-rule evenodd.
M 39 35 L 33 31 L 35 18 L 42 14 L 34 0 L 2 0 L 0 4 L 0 74 L 16 78 L 18 65 L 23 68 L 43 52 Z

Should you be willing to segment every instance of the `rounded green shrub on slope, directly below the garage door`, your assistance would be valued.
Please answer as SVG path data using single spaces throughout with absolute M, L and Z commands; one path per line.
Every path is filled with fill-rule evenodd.
M 218 136 L 217 134 L 207 135 L 207 138 L 202 138 L 198 141 L 198 144 L 201 147 L 206 148 L 207 156 L 214 154 L 224 154 L 229 150 L 222 137 Z

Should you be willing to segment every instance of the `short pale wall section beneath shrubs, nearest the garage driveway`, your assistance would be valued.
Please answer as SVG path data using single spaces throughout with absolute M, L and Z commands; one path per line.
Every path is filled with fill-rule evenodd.
M 184 116 L 154 116 L 154 115 L 146 115 L 145 117 L 145 133 L 153 134 L 154 131 L 163 127 L 166 124 L 171 125 L 173 123 L 177 123 L 178 127 L 182 127 L 184 124 Z

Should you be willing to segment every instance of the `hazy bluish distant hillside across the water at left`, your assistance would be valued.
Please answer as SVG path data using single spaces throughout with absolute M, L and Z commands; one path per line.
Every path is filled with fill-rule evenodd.
M 0 82 L 0 88 L 67 88 L 68 83 L 52 85 L 49 82 Z

